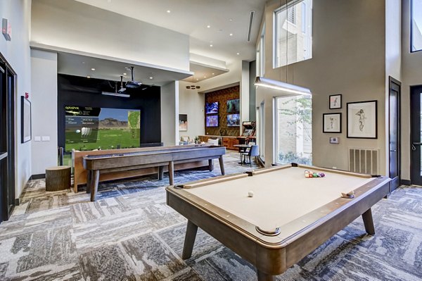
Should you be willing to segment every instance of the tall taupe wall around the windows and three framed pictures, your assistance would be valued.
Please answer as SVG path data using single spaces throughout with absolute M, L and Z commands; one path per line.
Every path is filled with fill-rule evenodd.
M 265 76 L 290 82 L 312 90 L 312 147 L 316 166 L 347 170 L 349 147 L 381 150 L 380 173 L 387 171 L 385 163 L 385 4 L 384 1 L 314 1 L 313 58 L 288 67 L 272 68 L 273 12 L 278 1 L 267 4 L 264 12 Z M 294 78 L 294 80 L 293 80 Z M 343 108 L 328 109 L 328 96 L 343 94 Z M 346 104 L 352 101 L 378 100 L 378 139 L 347 139 Z M 261 102 L 257 93 L 256 104 Z M 274 130 L 267 125 L 272 120 L 272 106 L 265 103 L 267 116 L 265 147 L 272 146 Z M 270 111 L 268 113 L 267 111 Z M 322 132 L 323 113 L 342 113 L 341 134 Z M 271 116 L 271 117 L 270 117 Z M 270 118 L 270 119 L 268 119 Z M 329 144 L 329 137 L 340 137 L 340 144 Z M 271 161 L 272 155 L 270 155 Z M 267 155 L 265 156 L 267 162 Z

